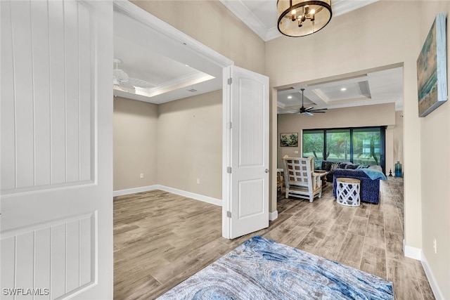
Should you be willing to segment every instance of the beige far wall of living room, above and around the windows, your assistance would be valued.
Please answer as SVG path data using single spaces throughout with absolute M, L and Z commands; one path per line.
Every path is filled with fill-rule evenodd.
M 278 168 L 282 168 L 282 157 L 289 155 L 298 157 L 302 155 L 302 130 L 321 128 L 343 128 L 364 126 L 394 126 L 395 105 L 394 103 L 367 105 L 360 107 L 335 108 L 327 110 L 326 114 L 316 114 L 313 117 L 297 114 L 278 115 L 278 137 L 280 133 L 299 133 L 298 147 L 280 147 L 278 138 Z M 387 141 L 390 145 L 390 141 Z M 297 153 L 295 153 L 297 151 Z M 386 152 L 392 152 L 386 148 Z M 386 162 L 386 166 L 392 164 Z M 388 167 L 387 167 L 388 168 Z M 387 169 L 389 171 L 389 169 Z

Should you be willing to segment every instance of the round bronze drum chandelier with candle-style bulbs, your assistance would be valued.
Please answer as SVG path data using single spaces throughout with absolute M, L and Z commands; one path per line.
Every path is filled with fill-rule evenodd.
M 288 37 L 318 32 L 331 20 L 331 0 L 278 0 L 278 30 Z

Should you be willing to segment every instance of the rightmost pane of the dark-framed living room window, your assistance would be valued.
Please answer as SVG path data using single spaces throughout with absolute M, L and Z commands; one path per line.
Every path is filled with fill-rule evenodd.
M 353 163 L 380 166 L 381 133 L 379 128 L 354 129 Z

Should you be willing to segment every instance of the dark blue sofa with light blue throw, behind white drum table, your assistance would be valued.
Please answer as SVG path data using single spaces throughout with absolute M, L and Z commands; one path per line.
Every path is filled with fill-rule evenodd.
M 336 178 L 355 178 L 361 181 L 361 201 L 378 204 L 380 201 L 380 180 L 386 179 L 382 171 L 376 169 L 335 169 L 333 176 L 333 196 L 336 197 Z M 372 179 L 372 178 L 373 179 Z

